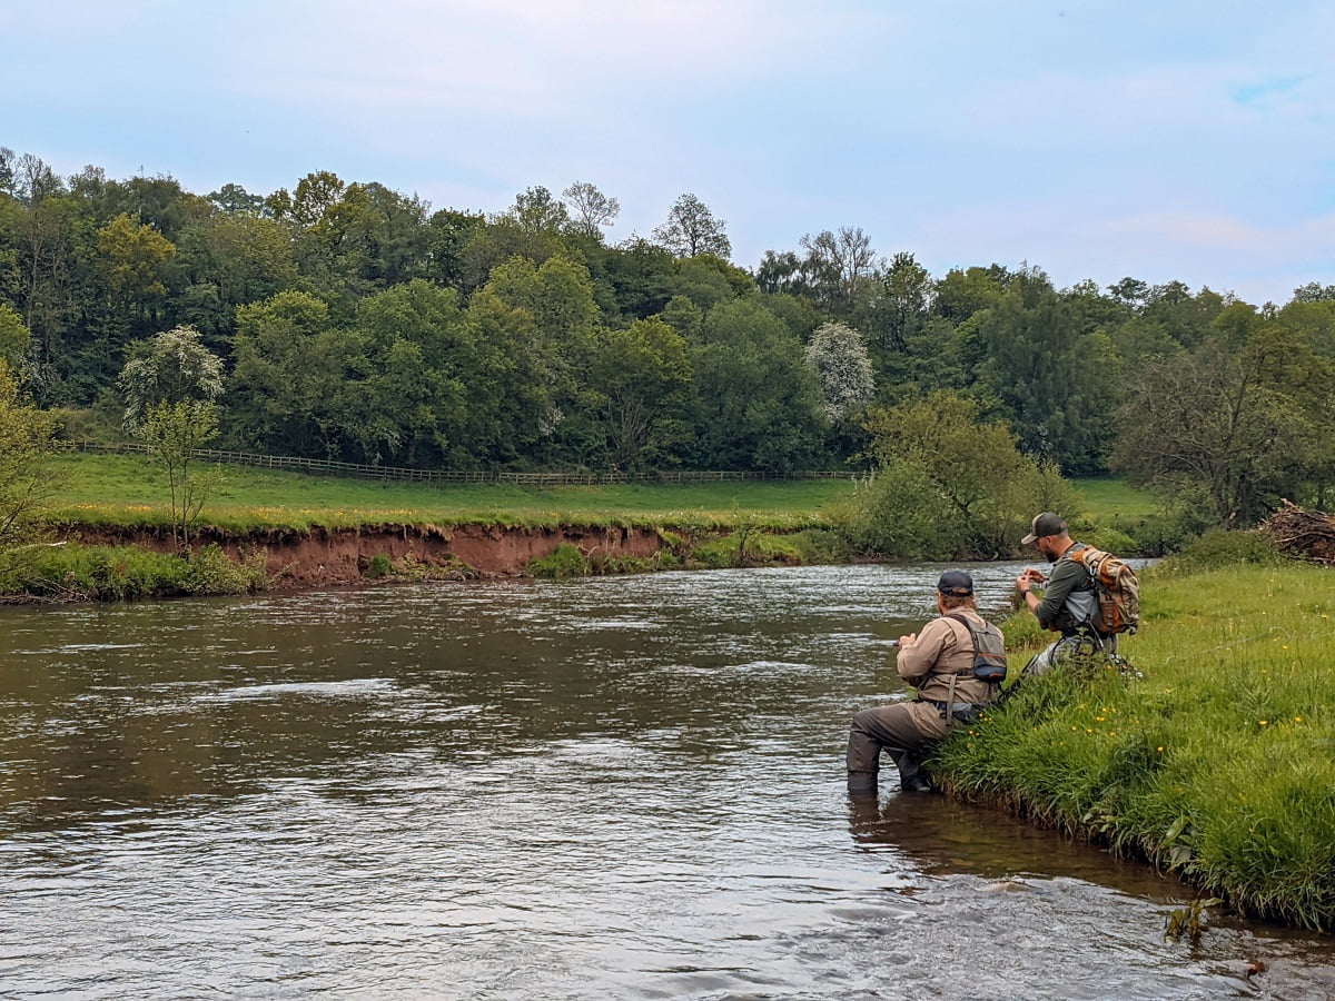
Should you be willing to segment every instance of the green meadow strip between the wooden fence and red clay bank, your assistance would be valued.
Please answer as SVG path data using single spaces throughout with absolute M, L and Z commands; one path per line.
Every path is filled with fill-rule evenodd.
M 200 466 L 200 468 L 211 468 Z M 431 486 L 315 476 L 222 466 L 222 482 L 204 507 L 203 523 L 232 531 L 350 527 L 362 525 L 514 526 L 729 525 L 738 513 L 761 527 L 824 527 L 821 507 L 852 492 L 848 480 L 754 480 L 733 483 L 522 487 Z M 64 455 L 60 486 L 49 503 L 56 523 L 163 525 L 163 474 L 134 455 Z

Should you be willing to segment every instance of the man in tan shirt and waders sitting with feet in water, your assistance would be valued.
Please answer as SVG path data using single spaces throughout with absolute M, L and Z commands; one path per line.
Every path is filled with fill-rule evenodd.
M 965 617 L 976 630 L 992 630 L 997 645 L 1004 642 L 996 626 L 979 615 L 973 598 L 973 578 L 963 570 L 941 574 L 936 586 L 940 618 L 922 631 L 900 637 L 894 666 L 900 677 L 917 689 L 912 702 L 864 709 L 853 717 L 848 737 L 848 791 L 874 794 L 881 751 L 889 751 L 900 770 L 904 791 L 930 790 L 921 771 L 929 746 L 943 739 L 953 725 L 977 707 L 996 702 L 1001 686 L 980 681 L 973 674 L 973 637 L 956 617 Z

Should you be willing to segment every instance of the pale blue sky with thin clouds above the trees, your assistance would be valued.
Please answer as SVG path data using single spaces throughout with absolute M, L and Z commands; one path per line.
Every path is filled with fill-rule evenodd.
M 733 262 L 882 255 L 1284 303 L 1335 284 L 1322 0 L 4 0 L 0 145 L 267 195 L 315 171 L 499 212 L 684 192 Z

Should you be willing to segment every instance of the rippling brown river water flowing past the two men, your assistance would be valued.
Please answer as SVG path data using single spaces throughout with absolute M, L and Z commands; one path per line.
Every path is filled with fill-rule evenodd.
M 1335 996 L 1328 936 L 1168 941 L 1180 884 L 889 762 L 849 803 L 939 571 L 4 610 L 0 994 Z

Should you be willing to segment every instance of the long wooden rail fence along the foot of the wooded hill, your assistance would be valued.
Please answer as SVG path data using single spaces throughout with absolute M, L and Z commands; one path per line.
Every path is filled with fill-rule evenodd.
M 64 442 L 64 447 L 79 452 L 107 455 L 134 455 L 148 452 L 147 444 L 127 442 Z M 259 455 L 255 452 L 200 448 L 195 455 L 204 462 L 231 462 L 270 470 L 298 472 L 332 472 L 339 476 L 366 479 L 394 479 L 414 483 L 514 483 L 521 486 L 579 486 L 599 483 L 726 483 L 748 479 L 862 479 L 865 472 L 846 470 L 809 470 L 801 472 L 756 472 L 750 470 L 661 470 L 657 472 L 505 472 L 489 470 L 413 470 L 399 466 L 364 466 L 334 459 L 302 459 L 294 455 Z

